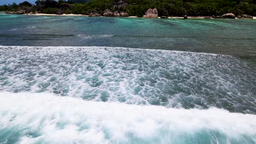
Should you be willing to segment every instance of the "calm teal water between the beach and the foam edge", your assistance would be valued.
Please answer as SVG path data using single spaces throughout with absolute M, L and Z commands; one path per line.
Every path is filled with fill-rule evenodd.
M 109 46 L 256 56 L 255 20 L 129 19 L 0 13 L 0 44 Z

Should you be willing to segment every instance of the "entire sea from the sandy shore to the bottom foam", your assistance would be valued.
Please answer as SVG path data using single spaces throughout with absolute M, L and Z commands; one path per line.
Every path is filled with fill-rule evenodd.
M 255 24 L 0 13 L 0 143 L 256 143 Z

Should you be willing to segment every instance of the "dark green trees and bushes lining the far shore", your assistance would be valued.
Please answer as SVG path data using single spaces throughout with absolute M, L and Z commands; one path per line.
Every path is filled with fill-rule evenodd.
M 159 16 L 212 16 L 225 13 L 235 15 L 256 16 L 255 0 L 45 0 L 37 1 L 36 5 L 27 3 L 0 6 L 0 11 L 18 11 L 29 7 L 27 13 L 46 14 L 90 14 L 110 9 L 125 11 L 132 16 L 143 16 L 149 8 L 158 9 Z

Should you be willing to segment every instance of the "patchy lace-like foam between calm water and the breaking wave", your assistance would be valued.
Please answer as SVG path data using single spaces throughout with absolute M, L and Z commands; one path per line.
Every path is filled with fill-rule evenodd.
M 239 58 L 125 47 L 0 46 L 0 91 L 256 113 L 256 73 Z

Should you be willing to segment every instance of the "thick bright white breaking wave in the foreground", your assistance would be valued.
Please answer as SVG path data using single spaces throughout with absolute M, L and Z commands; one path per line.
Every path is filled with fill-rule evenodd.
M 256 116 L 0 93 L 0 142 L 254 143 Z M 15 141 L 16 140 L 16 141 Z

